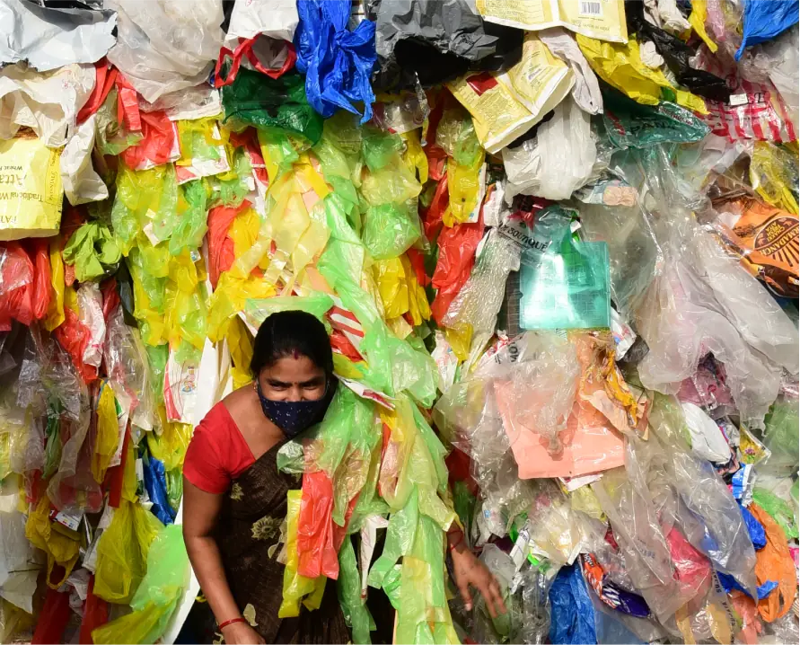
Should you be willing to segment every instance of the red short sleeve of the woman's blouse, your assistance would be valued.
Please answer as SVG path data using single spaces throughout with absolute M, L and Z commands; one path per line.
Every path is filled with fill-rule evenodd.
M 256 460 L 223 402 L 195 429 L 183 462 L 186 479 L 200 490 L 224 493 Z

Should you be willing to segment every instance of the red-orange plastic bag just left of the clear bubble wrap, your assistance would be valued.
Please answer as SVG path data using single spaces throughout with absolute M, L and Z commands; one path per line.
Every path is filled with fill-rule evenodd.
M 431 305 L 431 314 L 436 322 L 442 321 L 453 298 L 458 296 L 464 283 L 470 278 L 475 251 L 482 237 L 482 213 L 476 224 L 455 225 L 453 228 L 445 228 L 439 235 L 439 260 L 432 279 L 432 284 L 438 291 Z

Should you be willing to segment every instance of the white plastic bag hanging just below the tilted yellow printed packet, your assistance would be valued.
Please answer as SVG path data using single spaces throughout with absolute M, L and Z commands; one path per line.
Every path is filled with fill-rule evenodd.
M 541 175 L 535 194 L 547 199 L 569 199 L 588 181 L 597 157 L 589 115 L 567 98 L 558 103 L 553 118 L 542 124 L 536 137 Z

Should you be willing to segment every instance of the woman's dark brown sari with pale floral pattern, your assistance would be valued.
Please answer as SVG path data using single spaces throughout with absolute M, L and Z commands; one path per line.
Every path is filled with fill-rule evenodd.
M 300 488 L 300 479 L 279 473 L 272 446 L 233 482 L 224 495 L 217 520 L 216 543 L 225 577 L 240 611 L 256 610 L 254 628 L 267 645 L 347 645 L 350 633 L 338 604 L 336 581 L 329 580 L 319 609 L 303 607 L 297 618 L 280 619 L 284 565 L 268 552 L 278 542 L 286 517 L 286 492 Z

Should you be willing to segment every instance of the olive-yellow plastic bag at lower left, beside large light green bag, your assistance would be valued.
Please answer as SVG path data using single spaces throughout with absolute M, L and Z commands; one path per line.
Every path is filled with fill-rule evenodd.
M 150 544 L 162 528 L 153 513 L 123 498 L 97 545 L 94 594 L 127 605 L 145 577 Z

